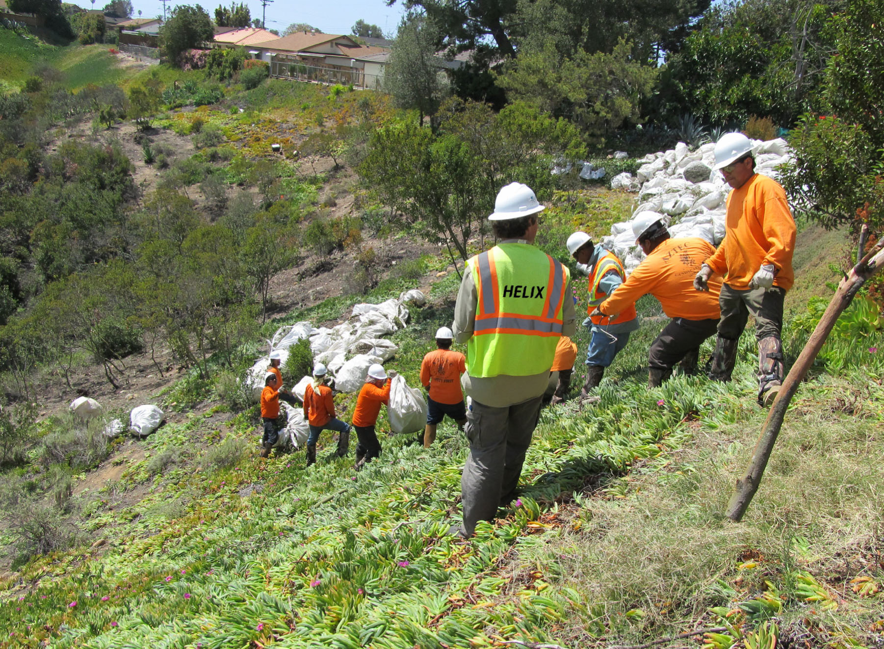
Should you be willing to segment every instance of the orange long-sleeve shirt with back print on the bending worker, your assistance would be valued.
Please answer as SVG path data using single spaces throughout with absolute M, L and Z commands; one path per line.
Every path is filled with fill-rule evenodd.
M 652 294 L 668 317 L 705 320 L 720 317 L 721 281 L 709 280 L 708 291 L 694 288 L 694 277 L 700 265 L 715 251 L 705 239 L 667 239 L 613 292 L 598 309 L 602 313 L 621 313 L 645 294 Z

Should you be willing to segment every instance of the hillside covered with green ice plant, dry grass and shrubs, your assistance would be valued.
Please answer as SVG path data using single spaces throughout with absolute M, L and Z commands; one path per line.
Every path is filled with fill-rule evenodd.
M 724 509 L 766 417 L 752 325 L 731 383 L 649 389 L 665 317 L 643 298 L 598 401 L 573 398 L 578 366 L 572 398 L 542 411 L 517 500 L 463 541 L 449 528 L 469 449 L 450 420 L 425 450 L 383 434 L 382 410 L 377 461 L 354 471 L 326 432 L 308 469 L 302 450 L 258 457 L 242 379 L 280 326 L 420 286 L 387 363 L 418 386 L 461 257 L 491 242 L 489 187 L 509 179 L 539 183 L 537 245 L 569 265 L 586 313 L 564 242 L 628 220 L 635 196 L 548 170 L 566 153 L 636 159 L 587 150 L 528 103 L 452 100 L 431 131 L 387 95 L 266 80 L 228 55 L 123 73 L 99 46 L 10 43 L 0 78 L 33 80 L 0 103 L 0 649 L 884 648 L 874 293 L 801 386 L 742 523 Z M 798 225 L 787 369 L 854 248 L 847 227 Z M 286 385 L 311 363 L 295 347 Z M 67 411 L 80 393 L 101 417 Z M 155 433 L 103 434 L 141 403 L 164 409 Z M 355 395 L 335 403 L 349 421 Z

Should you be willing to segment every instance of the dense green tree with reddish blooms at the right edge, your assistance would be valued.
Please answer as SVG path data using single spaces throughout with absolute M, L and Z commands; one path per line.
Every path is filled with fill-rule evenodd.
M 789 143 L 796 162 L 784 175 L 795 209 L 827 227 L 884 229 L 884 5 L 847 0 L 826 26 L 835 43 L 818 110 L 805 114 Z

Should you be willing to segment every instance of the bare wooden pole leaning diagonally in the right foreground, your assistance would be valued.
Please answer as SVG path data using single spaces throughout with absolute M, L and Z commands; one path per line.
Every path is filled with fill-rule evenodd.
M 761 484 L 761 477 L 764 476 L 767 461 L 770 460 L 773 452 L 773 445 L 776 443 L 777 436 L 780 434 L 782 421 L 786 416 L 786 409 L 789 408 L 789 401 L 798 391 L 799 384 L 807 376 L 807 371 L 811 369 L 813 359 L 819 354 L 819 350 L 828 338 L 828 334 L 832 332 L 835 322 L 847 309 L 853 296 L 865 284 L 865 281 L 871 278 L 877 271 L 880 271 L 884 265 L 884 240 L 878 241 L 874 248 L 869 250 L 868 255 L 853 267 L 850 275 L 842 279 L 838 285 L 832 302 L 819 319 L 817 328 L 813 330 L 810 339 L 801 350 L 792 369 L 789 370 L 789 376 L 782 382 L 780 393 L 777 394 L 776 400 L 773 401 L 770 413 L 767 415 L 764 428 L 758 435 L 758 441 L 755 443 L 755 450 L 752 451 L 752 459 L 749 463 L 749 469 L 745 475 L 736 481 L 736 491 L 731 496 L 728 503 L 728 518 L 737 523 L 743 518 L 746 509 L 752 501 L 755 492 L 758 491 L 758 485 Z

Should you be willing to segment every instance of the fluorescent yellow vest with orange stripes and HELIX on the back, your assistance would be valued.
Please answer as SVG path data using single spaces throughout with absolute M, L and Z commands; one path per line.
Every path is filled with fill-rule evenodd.
M 468 263 L 478 297 L 469 375 L 549 371 L 562 332 L 568 269 L 524 243 L 500 243 Z

